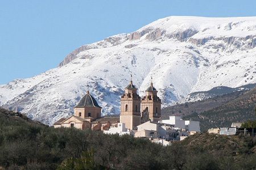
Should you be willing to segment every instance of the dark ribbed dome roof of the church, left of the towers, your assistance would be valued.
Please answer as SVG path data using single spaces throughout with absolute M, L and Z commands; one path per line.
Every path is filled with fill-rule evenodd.
M 94 97 L 89 94 L 89 91 L 87 91 L 87 94 L 84 97 L 82 97 L 82 99 L 79 101 L 79 104 L 77 104 L 75 108 L 84 107 L 101 108 L 98 105 L 97 101 L 94 99 Z

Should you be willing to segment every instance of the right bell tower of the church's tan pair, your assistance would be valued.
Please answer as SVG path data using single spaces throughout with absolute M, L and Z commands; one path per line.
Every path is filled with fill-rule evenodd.
M 146 90 L 146 96 L 142 97 L 141 100 L 142 112 L 147 111 L 148 117 L 153 122 L 158 122 L 161 117 L 161 99 L 158 97 L 158 91 L 155 89 L 152 83 Z

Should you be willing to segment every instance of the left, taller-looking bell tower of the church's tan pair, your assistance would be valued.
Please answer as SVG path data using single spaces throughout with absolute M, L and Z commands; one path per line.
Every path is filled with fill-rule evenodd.
M 133 85 L 132 75 L 125 94 L 121 96 L 120 123 L 125 123 L 125 127 L 131 130 L 141 124 L 141 97 Z

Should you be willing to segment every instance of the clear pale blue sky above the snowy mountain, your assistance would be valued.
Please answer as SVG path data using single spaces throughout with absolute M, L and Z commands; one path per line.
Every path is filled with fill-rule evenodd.
M 171 15 L 256 16 L 256 1 L 0 1 L 0 84 L 52 69 L 72 50 Z

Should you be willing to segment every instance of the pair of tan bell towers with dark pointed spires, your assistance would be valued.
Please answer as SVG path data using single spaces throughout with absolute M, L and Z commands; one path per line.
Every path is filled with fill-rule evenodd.
M 152 83 L 142 98 L 137 94 L 132 76 L 125 94 L 121 96 L 120 123 L 125 123 L 127 129 L 133 130 L 146 121 L 158 122 L 161 117 L 161 99 Z

